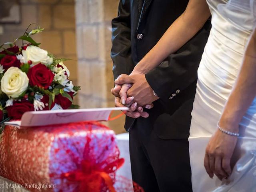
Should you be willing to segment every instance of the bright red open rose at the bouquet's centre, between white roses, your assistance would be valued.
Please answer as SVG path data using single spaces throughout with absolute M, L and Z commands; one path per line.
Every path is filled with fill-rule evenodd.
M 54 74 L 45 65 L 39 63 L 28 70 L 29 83 L 32 86 L 47 89 L 54 78 Z

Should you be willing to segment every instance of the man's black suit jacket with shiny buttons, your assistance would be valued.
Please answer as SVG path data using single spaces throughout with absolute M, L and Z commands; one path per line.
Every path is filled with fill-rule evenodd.
M 188 0 L 120 0 L 118 16 L 112 20 L 114 78 L 132 72 L 187 4 Z M 150 114 L 148 121 L 160 138 L 189 136 L 197 69 L 209 31 L 210 20 L 182 48 L 146 74 L 146 80 L 160 99 L 154 102 L 154 108 L 145 111 Z M 143 37 L 139 39 L 138 34 Z M 126 117 L 126 131 L 136 121 L 140 118 Z

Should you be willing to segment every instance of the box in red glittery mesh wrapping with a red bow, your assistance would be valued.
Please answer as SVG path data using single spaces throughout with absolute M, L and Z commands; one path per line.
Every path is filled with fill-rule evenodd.
M 117 184 L 115 172 L 122 163 L 114 131 L 98 122 L 6 126 L 0 140 L 1 176 L 19 184 L 56 184 L 30 191 L 132 191 L 125 179 L 111 188 Z

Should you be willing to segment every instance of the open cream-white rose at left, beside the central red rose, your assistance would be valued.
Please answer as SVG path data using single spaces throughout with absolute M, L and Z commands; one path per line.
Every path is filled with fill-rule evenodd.
M 17 98 L 28 88 L 28 76 L 17 67 L 10 67 L 1 80 L 1 90 L 9 98 Z

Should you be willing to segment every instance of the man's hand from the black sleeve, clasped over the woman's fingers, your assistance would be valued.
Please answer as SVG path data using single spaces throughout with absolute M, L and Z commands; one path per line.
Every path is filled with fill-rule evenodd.
M 159 97 L 154 96 L 153 89 L 148 84 L 144 74 L 135 74 L 130 76 L 120 76 L 115 80 L 118 85 L 133 84 L 127 91 L 127 96 L 133 96 L 134 102 L 144 106 L 158 100 Z

